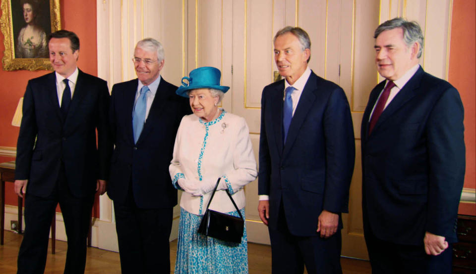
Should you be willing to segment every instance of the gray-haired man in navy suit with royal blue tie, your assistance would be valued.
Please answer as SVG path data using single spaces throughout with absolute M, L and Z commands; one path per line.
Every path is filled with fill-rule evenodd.
M 348 212 L 355 140 L 349 103 L 307 66 L 300 28 L 274 38 L 281 80 L 261 97 L 258 211 L 268 225 L 273 273 L 342 273 L 341 213 Z

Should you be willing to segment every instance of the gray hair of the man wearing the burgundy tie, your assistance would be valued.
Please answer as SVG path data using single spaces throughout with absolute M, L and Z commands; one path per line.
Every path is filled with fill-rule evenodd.
M 413 43 L 418 43 L 420 45 L 418 54 L 416 55 L 417 58 L 420 58 L 421 53 L 423 52 L 424 37 L 423 33 L 421 32 L 420 25 L 418 25 L 416 21 L 407 21 L 402 17 L 396 17 L 392 20 L 385 21 L 377 27 L 373 38 L 377 38 L 379 34 L 384 31 L 393 30 L 396 28 L 401 28 L 403 30 L 403 41 L 405 41 L 407 47 L 412 46 Z

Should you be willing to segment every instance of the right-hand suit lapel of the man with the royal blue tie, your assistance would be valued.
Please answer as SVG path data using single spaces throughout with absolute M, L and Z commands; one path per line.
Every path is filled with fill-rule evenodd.
M 299 128 L 306 119 L 307 113 L 314 104 L 316 95 L 314 92 L 317 92 L 316 85 L 316 76 L 314 73 L 311 73 L 307 83 L 304 86 L 304 90 L 301 93 L 299 102 L 297 103 L 296 111 L 294 112 L 293 119 L 291 119 L 291 125 L 289 126 L 288 137 L 286 138 L 286 143 L 284 146 L 283 155 L 286 156 L 291 150 L 294 141 L 297 138 Z

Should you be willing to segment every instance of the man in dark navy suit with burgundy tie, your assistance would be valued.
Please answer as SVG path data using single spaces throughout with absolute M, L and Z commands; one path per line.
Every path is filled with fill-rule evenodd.
M 372 273 L 451 273 L 465 176 L 463 104 L 418 65 L 418 23 L 394 18 L 374 38 L 386 80 L 370 93 L 360 132 Z

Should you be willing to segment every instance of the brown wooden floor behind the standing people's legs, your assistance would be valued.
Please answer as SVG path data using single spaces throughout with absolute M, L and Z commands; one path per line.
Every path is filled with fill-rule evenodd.
M 0 273 L 16 273 L 16 257 L 23 236 L 5 231 L 4 245 L 0 246 Z M 50 240 L 51 248 L 51 240 Z M 47 274 L 63 273 L 66 259 L 66 242 L 56 241 L 56 254 L 52 255 L 48 251 L 46 262 Z M 171 242 L 170 262 L 172 270 L 175 266 L 177 252 L 177 240 Z M 88 248 L 86 260 L 86 271 L 88 274 L 113 274 L 120 273 L 119 253 L 107 251 L 99 248 Z M 344 274 L 370 273 L 370 264 L 366 261 L 342 258 L 342 269 Z M 271 273 L 271 248 L 268 245 L 249 243 L 248 244 L 248 265 L 250 274 Z M 173 271 L 171 272 L 173 273 Z

